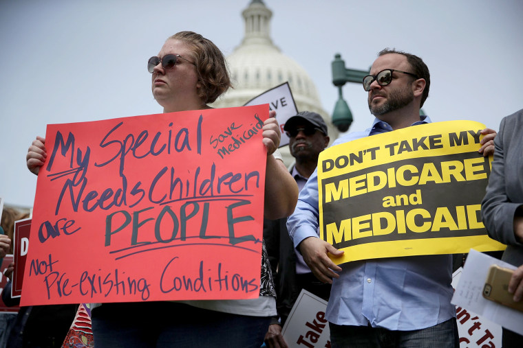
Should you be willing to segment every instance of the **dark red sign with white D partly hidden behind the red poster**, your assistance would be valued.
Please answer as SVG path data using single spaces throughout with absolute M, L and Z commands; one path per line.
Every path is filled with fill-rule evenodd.
M 25 261 L 28 259 L 31 222 L 32 219 L 23 219 L 14 222 L 14 271 L 12 275 L 11 297 L 20 297 L 22 294 L 23 272 L 25 270 Z

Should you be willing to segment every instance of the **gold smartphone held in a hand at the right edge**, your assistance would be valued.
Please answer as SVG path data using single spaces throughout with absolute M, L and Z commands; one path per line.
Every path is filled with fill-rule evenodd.
M 514 302 L 514 295 L 509 292 L 509 281 L 513 272 L 514 270 L 509 268 L 491 265 L 483 287 L 483 297 L 523 312 L 523 301 Z

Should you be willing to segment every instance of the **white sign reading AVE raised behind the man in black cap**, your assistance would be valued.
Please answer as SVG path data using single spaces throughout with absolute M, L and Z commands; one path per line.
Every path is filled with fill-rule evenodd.
M 298 110 L 288 82 L 284 82 L 273 89 L 261 93 L 257 97 L 246 102 L 244 106 L 269 104 L 271 111 L 276 111 L 276 119 L 281 130 L 281 140 L 279 147 L 286 146 L 289 143 L 289 137 L 284 132 L 285 122 L 292 116 L 297 115 Z

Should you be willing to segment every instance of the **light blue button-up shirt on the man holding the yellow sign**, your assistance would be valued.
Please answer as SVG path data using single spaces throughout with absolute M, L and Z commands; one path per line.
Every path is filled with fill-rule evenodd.
M 431 122 L 429 117 L 412 124 Z M 365 132 L 351 132 L 332 144 L 392 131 L 374 119 Z M 318 176 L 315 170 L 301 190 L 295 212 L 287 220 L 289 235 L 297 248 L 307 237 L 318 237 Z M 453 289 L 451 255 L 424 255 L 368 259 L 339 265 L 325 313 L 337 325 L 371 325 L 390 330 L 431 327 L 456 316 L 451 305 Z

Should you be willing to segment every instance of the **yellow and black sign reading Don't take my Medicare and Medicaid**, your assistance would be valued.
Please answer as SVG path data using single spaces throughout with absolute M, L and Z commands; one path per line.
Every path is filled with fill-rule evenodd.
M 481 200 L 492 157 L 484 125 L 423 124 L 333 146 L 318 161 L 321 239 L 359 259 L 499 251 Z

